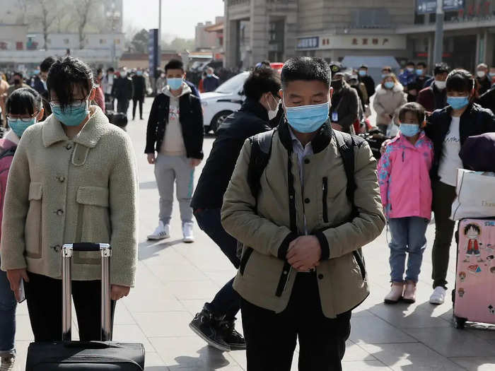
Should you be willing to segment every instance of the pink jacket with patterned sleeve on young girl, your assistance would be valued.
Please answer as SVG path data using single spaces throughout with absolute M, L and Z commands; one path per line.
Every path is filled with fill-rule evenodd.
M 397 135 L 378 162 L 378 183 L 388 218 L 431 218 L 433 143 L 421 131 L 413 146 Z

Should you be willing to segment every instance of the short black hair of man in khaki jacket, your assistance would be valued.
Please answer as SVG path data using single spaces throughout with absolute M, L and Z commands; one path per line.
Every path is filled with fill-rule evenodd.
M 291 81 L 321 81 L 328 88 L 332 83 L 332 71 L 327 62 L 317 57 L 294 57 L 284 63 L 281 74 L 282 86 Z

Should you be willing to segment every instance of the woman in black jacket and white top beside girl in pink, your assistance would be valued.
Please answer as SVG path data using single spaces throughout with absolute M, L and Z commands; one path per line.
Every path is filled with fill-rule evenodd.
M 465 168 L 459 157 L 460 150 L 468 137 L 495 131 L 494 114 L 473 102 L 475 86 L 470 72 L 451 71 L 446 82 L 448 106 L 433 112 L 425 127 L 434 153 L 430 175 L 436 223 L 432 250 L 434 291 L 430 302 L 436 305 L 442 304 L 446 295 L 445 278 L 455 227 L 455 222 L 450 220 L 450 211 L 456 196 L 458 169 Z

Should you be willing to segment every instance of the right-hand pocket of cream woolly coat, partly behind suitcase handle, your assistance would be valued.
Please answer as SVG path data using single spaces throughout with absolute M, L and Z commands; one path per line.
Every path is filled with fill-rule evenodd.
M 109 192 L 103 187 L 79 187 L 76 242 L 110 243 Z M 100 264 L 99 254 L 76 252 L 74 264 Z

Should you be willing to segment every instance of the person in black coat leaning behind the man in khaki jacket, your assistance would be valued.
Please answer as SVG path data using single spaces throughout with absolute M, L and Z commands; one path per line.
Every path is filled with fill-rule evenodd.
M 199 227 L 219 245 L 235 268 L 240 265 L 237 241 L 223 229 L 220 220 L 223 194 L 245 140 L 272 129 L 269 120 L 277 116 L 280 88 L 279 75 L 272 69 L 251 72 L 244 84 L 246 100 L 216 132 L 218 136 L 192 198 L 191 206 Z M 240 298 L 232 283 L 233 279 L 221 288 L 214 300 L 206 302 L 190 324 L 194 332 L 222 351 L 246 348 L 243 336 L 235 331 Z

